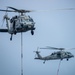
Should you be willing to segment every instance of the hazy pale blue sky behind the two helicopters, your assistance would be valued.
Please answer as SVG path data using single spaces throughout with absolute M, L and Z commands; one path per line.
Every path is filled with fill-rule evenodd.
M 35 21 L 36 30 L 32 36 L 30 31 L 23 33 L 23 69 L 24 75 L 56 75 L 59 60 L 35 60 L 37 47 L 75 48 L 75 10 L 55 10 L 75 8 L 75 0 L 0 0 L 0 9 L 7 6 L 18 9 L 36 10 L 27 13 Z M 47 11 L 40 11 L 47 10 Z M 0 28 L 5 12 L 0 12 Z M 17 13 L 9 13 L 10 17 Z M 4 23 L 2 28 L 6 28 Z M 47 56 L 53 50 L 40 50 Z M 75 55 L 75 50 L 69 50 Z M 20 75 L 21 73 L 21 34 L 13 36 L 0 33 L 0 75 Z M 61 62 L 59 75 L 75 75 L 75 58 Z

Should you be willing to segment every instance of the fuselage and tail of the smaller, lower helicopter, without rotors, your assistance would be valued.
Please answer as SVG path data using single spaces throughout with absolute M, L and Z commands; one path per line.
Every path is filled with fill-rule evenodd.
M 74 55 L 70 52 L 65 52 L 65 51 L 58 51 L 58 52 L 54 52 L 48 56 L 42 57 L 39 52 L 36 52 L 37 57 L 35 57 L 35 59 L 39 59 L 39 60 L 63 60 L 63 59 L 69 59 L 74 57 Z

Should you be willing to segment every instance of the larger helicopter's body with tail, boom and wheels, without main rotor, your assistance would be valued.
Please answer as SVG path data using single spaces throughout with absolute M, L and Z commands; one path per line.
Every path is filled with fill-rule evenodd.
M 14 16 L 11 19 L 8 15 L 4 16 L 6 20 L 6 27 L 7 29 L 0 29 L 0 32 L 8 32 L 11 34 L 10 40 L 12 40 L 12 35 L 21 32 L 31 31 L 31 34 L 34 35 L 35 30 L 35 22 L 30 16 L 21 14 L 19 16 Z

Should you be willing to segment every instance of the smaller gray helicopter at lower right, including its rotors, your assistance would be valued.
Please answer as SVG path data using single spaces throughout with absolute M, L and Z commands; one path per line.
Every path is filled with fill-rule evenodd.
M 38 51 L 38 49 L 54 49 L 54 50 L 60 50 L 60 51 L 53 52 L 48 56 L 42 57 L 40 55 L 40 51 Z M 71 48 L 68 50 L 72 50 L 72 49 L 75 49 L 75 48 Z M 74 55 L 72 53 L 64 51 L 64 50 L 66 50 L 66 49 L 65 48 L 49 47 L 49 46 L 47 46 L 46 48 L 37 48 L 37 51 L 34 51 L 37 55 L 37 57 L 35 57 L 35 59 L 44 60 L 43 63 L 45 63 L 45 61 L 47 61 L 47 60 L 58 60 L 58 59 L 60 59 L 60 60 L 67 59 L 67 61 L 68 61 L 69 58 L 74 57 Z

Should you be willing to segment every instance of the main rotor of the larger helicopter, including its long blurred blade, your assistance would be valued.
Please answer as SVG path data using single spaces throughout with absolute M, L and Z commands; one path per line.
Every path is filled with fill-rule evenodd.
M 8 6 L 7 8 L 13 9 L 13 10 L 3 10 L 0 9 L 0 11 L 5 12 L 19 12 L 19 13 L 27 13 L 27 12 L 50 12 L 50 11 L 58 11 L 58 10 L 75 10 L 75 8 L 62 8 L 62 9 L 49 9 L 49 10 L 23 10 L 23 9 L 16 9 L 14 7 Z

